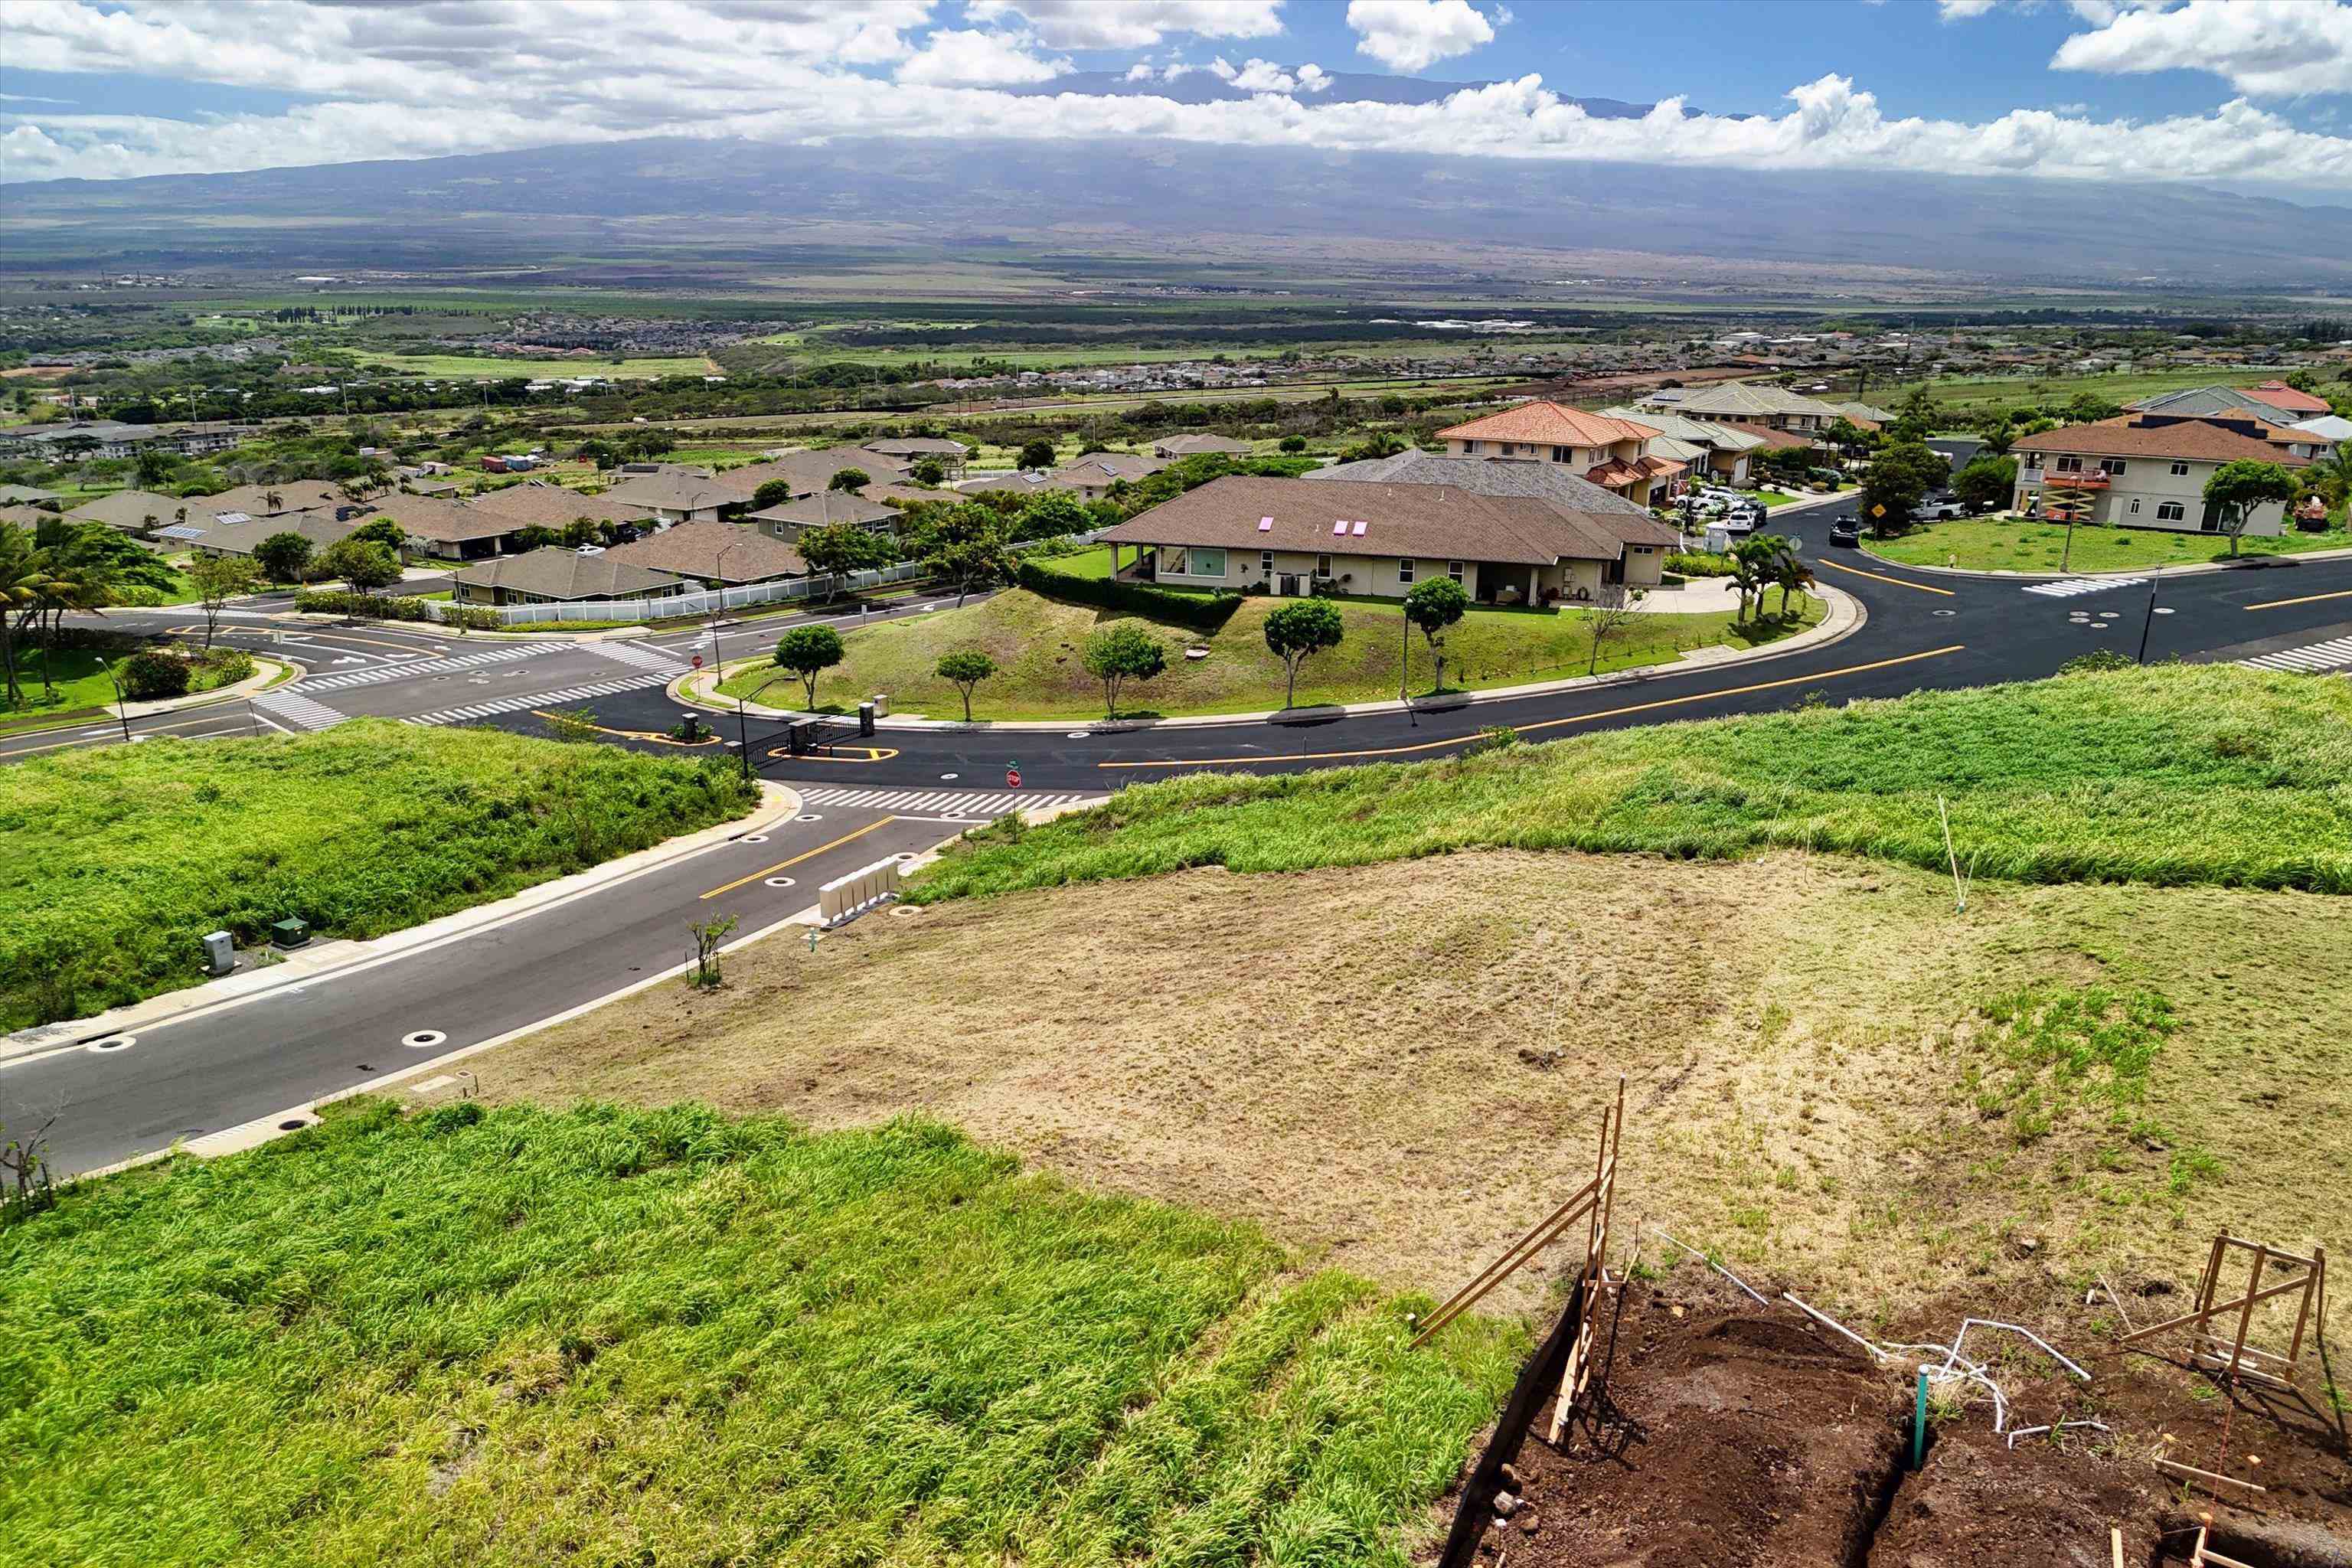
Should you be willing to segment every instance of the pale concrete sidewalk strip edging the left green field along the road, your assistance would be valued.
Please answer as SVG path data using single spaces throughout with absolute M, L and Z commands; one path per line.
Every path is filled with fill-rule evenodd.
M 106 1039 L 108 1034 L 153 1030 L 195 1013 L 209 1013 L 214 1009 L 249 1001 L 252 997 L 266 997 L 285 985 L 332 978 L 360 964 L 381 964 L 405 952 L 435 947 L 461 936 L 477 936 L 513 919 L 522 919 L 524 914 L 536 914 L 546 907 L 569 903 L 588 893 L 600 893 L 619 882 L 628 882 L 630 877 L 661 870 L 663 865 L 710 849 L 713 844 L 724 844 L 748 832 L 764 832 L 790 820 L 793 816 L 800 816 L 800 795 L 786 785 L 762 780 L 760 792 L 762 804 L 753 809 L 750 816 L 713 823 L 710 827 L 701 827 L 675 839 L 663 839 L 661 844 L 621 856 L 619 860 L 607 860 L 604 865 L 590 865 L 583 872 L 572 872 L 569 877 L 555 877 L 553 882 L 527 886 L 496 903 L 456 910 L 454 914 L 442 914 L 440 919 L 428 919 L 421 926 L 390 931 L 365 943 L 336 940 L 320 952 L 296 950 L 294 957 L 270 964 L 268 969 L 249 969 L 245 973 L 221 976 L 219 980 L 158 992 L 141 1001 L 129 1001 L 89 1018 L 38 1023 L 28 1030 L 16 1030 L 14 1034 L 0 1034 L 0 1063 L 14 1063 L 49 1051 L 68 1051 L 73 1046 L 85 1046 L 92 1039 Z

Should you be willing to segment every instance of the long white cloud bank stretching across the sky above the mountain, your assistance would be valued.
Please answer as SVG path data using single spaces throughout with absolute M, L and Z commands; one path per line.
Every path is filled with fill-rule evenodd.
M 492 153 L 626 136 L 1171 139 L 1329 150 L 1444 148 L 1465 158 L 1700 165 L 1724 169 L 1917 169 L 2042 179 L 2204 181 L 2347 190 L 2352 139 L 2298 129 L 2246 99 L 2206 115 L 2089 120 L 2011 110 L 1994 120 L 1889 113 L 1849 78 L 1790 92 L 1780 115 L 1693 115 L 1679 99 L 1639 120 L 1599 120 L 1538 75 L 1439 103 L 1334 103 L 1315 66 L 1225 63 L 1251 96 L 1176 103 L 1157 94 L 1009 94 L 1063 68 L 978 28 L 903 33 L 922 5 L 781 7 L 736 0 L 437 0 L 423 9 L 127 0 L 96 12 L 56 0 L 0 7 L 0 54 L 42 71 L 146 73 L 285 89 L 292 110 L 167 120 L 0 106 L 0 179 L 129 176 L 358 158 Z M 880 28 L 880 31 L 877 31 Z M 969 38 L 983 42 L 969 42 Z M 946 42 L 943 42 L 946 40 Z M 896 85 L 840 63 L 856 49 L 903 61 Z M 924 63 L 915 63 L 924 61 Z M 1183 66 L 1160 66 L 1169 80 Z M 1200 66 L 1195 66 L 1200 68 Z M 1279 80 L 1289 78 L 1291 87 Z M 960 85 L 960 82 L 993 85 Z M 1129 80 L 1143 80 L 1129 71 Z M 1244 85 L 1247 82 L 1247 85 Z

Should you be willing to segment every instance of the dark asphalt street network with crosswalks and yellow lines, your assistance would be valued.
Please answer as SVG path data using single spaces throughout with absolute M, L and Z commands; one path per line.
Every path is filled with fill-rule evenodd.
M 1783 529 L 1788 524 L 1780 524 Z M 1813 524 L 1825 534 L 1825 522 Z M 1799 654 L 1729 668 L 1665 670 L 1606 686 L 1454 705 L 1439 712 L 1374 712 L 1214 726 L 1051 731 L 964 726 L 884 729 L 828 757 L 781 755 L 781 722 L 753 719 L 755 766 L 807 792 L 809 818 L 764 842 L 734 842 L 614 884 L 496 931 L 409 952 L 143 1032 L 134 1046 L 0 1063 L 0 1121 L 21 1126 L 52 1112 L 61 1171 L 82 1171 L 176 1140 L 275 1114 L 322 1093 L 397 1072 L 419 1056 L 543 1020 L 607 997 L 684 957 L 687 919 L 739 914 L 746 931 L 814 903 L 814 889 L 884 853 L 915 851 L 1018 804 L 1101 795 L 1185 769 L 1289 771 L 1371 759 L 1439 757 L 1479 729 L 1510 724 L 1557 738 L 1590 729 L 1705 719 L 1788 708 L 1809 693 L 1830 701 L 1900 696 L 2051 675 L 2089 649 L 2190 661 L 2300 661 L 2352 637 L 2352 559 L 2246 562 L 2230 571 L 2161 581 L 2077 578 L 2018 583 L 1891 567 L 1856 550 L 1804 555 L 1820 581 L 1863 602 L 1853 635 Z M 2154 595 L 2154 604 L 2150 604 Z M 891 616 L 931 614 L 915 602 Z M 111 614 L 141 630 L 193 628 L 188 611 Z M 837 618 L 854 623 L 856 616 Z M 134 736 L 303 731 L 355 715 L 419 724 L 543 729 L 541 712 L 588 710 L 614 743 L 659 741 L 680 715 L 663 686 L 691 658 L 739 658 L 781 623 L 666 632 L 642 639 L 480 639 L 437 628 L 285 623 L 266 611 L 223 618 L 221 635 L 301 665 L 303 677 L 252 703 L 169 712 Z M 2343 644 L 2352 668 L 2352 644 Z M 734 738 L 731 719 L 715 719 Z M 120 743 L 118 724 L 0 741 L 0 762 L 59 745 Z M 715 752 L 717 748 L 713 748 Z M 1023 795 L 1002 792 L 1018 762 Z M 847 837 L 844 835 L 856 835 Z M 790 879 L 774 884 L 771 877 Z M 445 1034 L 428 1051 L 402 1037 Z

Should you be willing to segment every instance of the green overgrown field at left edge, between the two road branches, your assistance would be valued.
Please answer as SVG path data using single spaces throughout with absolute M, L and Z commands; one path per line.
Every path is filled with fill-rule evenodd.
M 381 936 L 741 816 L 729 769 L 362 719 L 0 771 L 0 1027 L 202 978 L 207 931 Z

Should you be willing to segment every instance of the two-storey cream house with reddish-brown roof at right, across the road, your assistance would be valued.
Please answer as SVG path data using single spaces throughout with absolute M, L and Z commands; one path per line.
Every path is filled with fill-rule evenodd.
M 2027 517 L 2220 534 L 2225 520 L 2206 505 L 2204 487 L 2223 463 L 2307 463 L 2272 437 L 2274 428 L 2258 418 L 2161 414 L 2025 435 L 2009 449 L 2018 458 L 2016 508 Z M 2246 534 L 2284 529 L 2286 508 L 2277 501 L 2256 508 L 2246 524 Z

